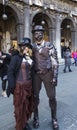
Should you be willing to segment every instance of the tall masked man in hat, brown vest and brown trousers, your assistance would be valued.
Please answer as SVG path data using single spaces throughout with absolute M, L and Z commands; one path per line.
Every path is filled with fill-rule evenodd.
M 44 28 L 41 25 L 36 25 L 32 30 L 34 36 L 33 43 L 33 89 L 34 89 L 34 117 L 33 127 L 39 127 L 39 94 L 44 83 L 47 96 L 49 98 L 49 105 L 51 109 L 52 126 L 53 129 L 58 129 L 57 122 L 57 101 L 56 101 L 56 86 L 58 76 L 58 58 L 55 46 L 44 40 Z

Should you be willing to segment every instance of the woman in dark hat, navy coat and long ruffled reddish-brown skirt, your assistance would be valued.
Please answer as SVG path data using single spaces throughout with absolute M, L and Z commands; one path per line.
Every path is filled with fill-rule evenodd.
M 30 38 L 25 37 L 19 44 L 20 51 L 13 51 L 8 69 L 7 95 L 13 94 L 16 130 L 31 130 L 28 120 L 33 112 L 32 93 L 32 46 Z

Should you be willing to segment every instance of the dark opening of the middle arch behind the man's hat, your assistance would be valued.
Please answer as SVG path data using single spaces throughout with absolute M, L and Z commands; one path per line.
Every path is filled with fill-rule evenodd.
M 51 35 L 51 20 L 49 19 L 49 17 L 45 14 L 45 13 L 37 13 L 32 21 L 32 28 L 35 25 L 42 25 L 45 28 L 45 32 L 44 32 L 44 40 L 49 41 L 51 40 L 52 36 Z M 53 39 L 53 38 L 52 38 Z

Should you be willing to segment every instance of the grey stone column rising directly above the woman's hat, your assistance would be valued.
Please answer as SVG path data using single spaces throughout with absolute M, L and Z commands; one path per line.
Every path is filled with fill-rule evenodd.
M 30 6 L 24 6 L 24 37 L 30 36 Z

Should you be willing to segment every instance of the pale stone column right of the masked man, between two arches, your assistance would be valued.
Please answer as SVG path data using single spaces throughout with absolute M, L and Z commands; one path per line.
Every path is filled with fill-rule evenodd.
M 58 52 L 58 58 L 61 58 L 61 30 L 60 30 L 60 19 L 59 19 L 59 15 L 57 15 L 56 17 L 56 25 L 55 25 L 56 29 L 55 29 L 55 45 L 57 48 L 57 52 Z

